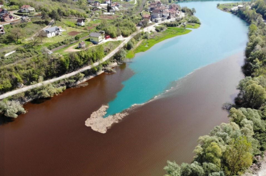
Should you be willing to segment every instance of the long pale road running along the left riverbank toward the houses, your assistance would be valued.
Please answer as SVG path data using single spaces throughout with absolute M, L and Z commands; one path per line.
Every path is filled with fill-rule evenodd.
M 162 22 L 167 22 L 168 20 L 165 20 L 165 21 L 162 21 Z M 162 23 L 160 22 L 160 23 Z M 116 49 L 114 49 L 111 53 L 109 53 L 106 57 L 104 57 L 100 63 L 102 62 L 105 62 L 107 59 L 110 59 L 114 54 L 116 54 L 121 48 L 123 48 L 125 46 L 125 44 L 127 44 L 127 42 L 129 42 L 129 40 L 131 40 L 135 35 L 137 35 L 138 33 L 140 33 L 141 31 L 149 31 L 150 29 L 152 29 L 154 26 L 160 24 L 160 23 L 156 23 L 156 24 L 153 24 L 151 26 L 148 26 L 142 30 L 138 30 L 137 32 L 133 33 L 131 36 L 127 37 Z M 68 77 L 72 77 L 80 72 L 84 72 L 85 70 L 88 70 L 88 69 L 91 69 L 92 67 L 96 67 L 98 66 L 98 62 L 95 62 L 93 65 L 89 65 L 89 66 L 86 66 L 86 67 L 83 67 L 77 71 L 74 71 L 74 72 L 71 72 L 71 73 L 68 73 L 68 74 L 64 74 L 60 77 L 56 77 L 56 78 L 53 78 L 53 79 L 49 79 L 47 81 L 43 81 L 43 82 L 40 82 L 38 84 L 34 84 L 34 85 L 30 85 L 30 86 L 27 86 L 27 87 L 23 87 L 23 88 L 20 88 L 20 89 L 16 89 L 16 90 L 13 90 L 11 92 L 7 92 L 7 93 L 4 93 L 4 94 L 1 94 L 0 95 L 0 99 L 4 99 L 4 98 L 7 98 L 7 97 L 10 97 L 12 95 L 15 95 L 15 94 L 19 94 L 21 92 L 25 92 L 27 90 L 30 90 L 30 89 L 33 89 L 33 88 L 36 88 L 36 87 L 41 87 L 43 85 L 46 85 L 46 84 L 49 84 L 49 83 L 53 83 L 53 82 L 56 82 L 56 81 L 59 81 L 61 79 L 65 79 L 65 78 L 68 78 Z

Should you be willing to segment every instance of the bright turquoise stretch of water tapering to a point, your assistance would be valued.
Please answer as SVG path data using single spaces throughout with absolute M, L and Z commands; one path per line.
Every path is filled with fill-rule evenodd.
M 248 24 L 216 8 L 216 4 L 226 2 L 179 3 L 194 7 L 202 25 L 189 34 L 162 41 L 148 51 L 137 54 L 128 64 L 135 74 L 122 83 L 124 88 L 109 102 L 106 116 L 153 99 L 169 89 L 172 82 L 195 69 L 244 52 L 248 41 Z

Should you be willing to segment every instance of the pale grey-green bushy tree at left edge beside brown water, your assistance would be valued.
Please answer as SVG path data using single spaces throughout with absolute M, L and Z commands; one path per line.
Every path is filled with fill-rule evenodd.
M 18 114 L 25 114 L 26 111 L 18 101 L 0 101 L 0 114 L 6 117 L 17 118 Z

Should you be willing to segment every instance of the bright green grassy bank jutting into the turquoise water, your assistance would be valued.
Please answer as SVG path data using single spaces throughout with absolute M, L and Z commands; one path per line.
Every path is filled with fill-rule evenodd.
M 140 46 L 138 46 L 136 49 L 130 50 L 127 53 L 126 57 L 131 59 L 135 56 L 136 53 L 145 52 L 151 47 L 153 47 L 153 45 L 163 40 L 166 40 L 166 39 L 169 39 L 175 36 L 179 36 L 179 35 L 188 34 L 189 32 L 191 32 L 190 29 L 179 28 L 179 27 L 168 27 L 165 31 L 154 34 L 153 38 L 143 40 Z

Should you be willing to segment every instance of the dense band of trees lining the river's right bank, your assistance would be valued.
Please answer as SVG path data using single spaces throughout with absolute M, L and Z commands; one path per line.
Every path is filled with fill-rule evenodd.
M 220 4 L 219 4 L 220 5 Z M 266 150 L 266 26 L 263 0 L 244 3 L 236 15 L 250 22 L 246 47 L 246 78 L 237 86 L 235 104 L 226 104 L 230 123 L 215 127 L 199 138 L 192 164 L 167 162 L 166 176 L 233 176 L 241 175 L 256 155 Z

